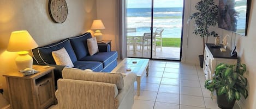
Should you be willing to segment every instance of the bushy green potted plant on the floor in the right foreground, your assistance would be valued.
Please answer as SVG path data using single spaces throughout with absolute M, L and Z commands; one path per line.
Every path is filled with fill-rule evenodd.
M 241 95 L 248 97 L 246 89 L 247 79 L 243 76 L 246 72 L 245 64 L 227 65 L 219 64 L 215 69 L 212 80 L 205 81 L 205 88 L 216 91 L 217 104 L 220 108 L 233 108 L 235 100 L 240 100 Z

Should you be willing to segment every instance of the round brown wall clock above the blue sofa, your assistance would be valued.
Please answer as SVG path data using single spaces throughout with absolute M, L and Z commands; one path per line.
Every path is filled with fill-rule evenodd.
M 50 0 L 49 14 L 56 23 L 63 23 L 68 16 L 68 7 L 65 0 Z

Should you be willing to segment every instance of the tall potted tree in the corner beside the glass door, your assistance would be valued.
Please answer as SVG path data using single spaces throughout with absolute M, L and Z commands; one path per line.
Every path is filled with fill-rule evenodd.
M 218 5 L 215 5 L 213 0 L 201 0 L 195 5 L 195 9 L 197 9 L 197 12 L 189 17 L 189 21 L 194 19 L 195 30 L 193 34 L 202 37 L 203 47 L 205 48 L 205 43 L 208 42 L 209 36 L 218 36 L 215 31 L 209 31 L 210 26 L 215 26 L 218 23 Z M 204 48 L 203 55 L 199 55 L 201 68 L 203 68 L 204 62 Z

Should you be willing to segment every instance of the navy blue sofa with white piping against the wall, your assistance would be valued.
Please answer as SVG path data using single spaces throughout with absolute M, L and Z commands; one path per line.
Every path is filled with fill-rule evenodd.
M 64 47 L 74 68 L 92 69 L 94 72 L 111 72 L 117 66 L 117 52 L 111 52 L 109 44 L 98 43 L 99 52 L 90 56 L 86 41 L 90 38 L 92 38 L 91 33 L 85 33 L 32 49 L 34 64 L 55 66 L 56 80 L 62 78 L 61 70 L 66 66 L 56 66 L 51 52 Z

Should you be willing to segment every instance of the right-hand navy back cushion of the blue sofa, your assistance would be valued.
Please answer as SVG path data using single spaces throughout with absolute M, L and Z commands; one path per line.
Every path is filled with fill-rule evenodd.
M 80 36 L 69 38 L 78 60 L 89 55 L 86 40 L 90 38 L 92 38 L 91 33 L 85 33 Z

